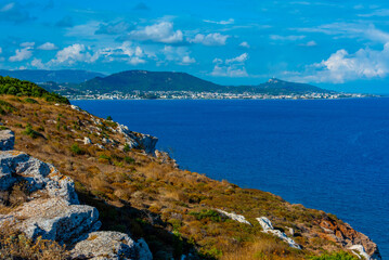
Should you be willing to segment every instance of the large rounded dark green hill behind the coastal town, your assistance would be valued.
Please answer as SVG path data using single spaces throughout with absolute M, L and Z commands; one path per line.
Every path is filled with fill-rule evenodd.
M 128 70 L 96 77 L 78 86 L 80 90 L 121 91 L 221 91 L 224 87 L 185 73 Z

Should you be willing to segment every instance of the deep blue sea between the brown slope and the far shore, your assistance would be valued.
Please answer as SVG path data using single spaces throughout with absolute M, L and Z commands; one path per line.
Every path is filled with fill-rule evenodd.
M 389 257 L 389 99 L 73 101 L 181 168 L 337 214 Z

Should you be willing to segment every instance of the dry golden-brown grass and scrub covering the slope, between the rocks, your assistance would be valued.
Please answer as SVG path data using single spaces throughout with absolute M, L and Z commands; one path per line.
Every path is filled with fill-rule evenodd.
M 156 259 L 179 258 L 180 252 L 190 251 L 208 259 L 300 259 L 326 248 L 340 248 L 325 239 L 320 240 L 319 248 L 309 239 L 313 234 L 321 235 L 312 226 L 327 217 L 322 211 L 291 206 L 270 193 L 177 169 L 171 161 L 140 151 L 124 152 L 119 145 L 106 145 L 102 151 L 85 145 L 76 140 L 88 136 L 96 144 L 105 136 L 122 144 L 124 138 L 104 126 L 104 119 L 103 126 L 96 126 L 89 115 L 66 105 L 55 106 L 39 99 L 38 104 L 12 96 L 1 99 L 17 109 L 0 116 L 1 122 L 15 131 L 16 148 L 52 162 L 73 178 L 81 202 L 101 212 L 104 230 L 145 237 Z M 23 134 L 27 122 L 41 136 Z M 72 151 L 74 143 L 82 153 Z M 216 208 L 242 213 L 254 226 L 231 220 L 197 220 L 191 214 Z M 261 216 L 275 226 L 293 227 L 304 250 L 290 250 L 263 235 L 255 220 Z

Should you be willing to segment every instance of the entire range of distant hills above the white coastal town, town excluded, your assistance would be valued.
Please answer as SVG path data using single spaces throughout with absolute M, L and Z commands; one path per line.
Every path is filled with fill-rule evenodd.
M 186 73 L 127 70 L 105 76 L 86 70 L 0 70 L 1 76 L 30 80 L 48 90 L 66 93 L 131 93 L 133 91 L 192 91 L 192 92 L 230 92 L 261 94 L 307 94 L 330 93 L 307 83 L 297 83 L 269 79 L 257 86 L 222 86 L 207 81 Z

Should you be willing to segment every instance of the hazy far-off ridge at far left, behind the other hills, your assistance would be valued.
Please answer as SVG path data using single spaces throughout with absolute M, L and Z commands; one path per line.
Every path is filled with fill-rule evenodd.
M 92 73 L 77 69 L 62 69 L 62 70 L 43 70 L 43 69 L 21 69 L 21 70 L 5 70 L 0 69 L 0 76 L 10 76 L 21 80 L 29 80 L 35 83 L 53 81 L 57 83 L 81 83 L 95 77 L 104 77 L 100 73 Z

